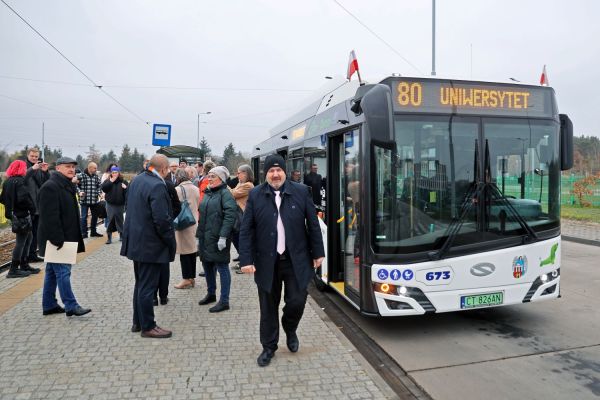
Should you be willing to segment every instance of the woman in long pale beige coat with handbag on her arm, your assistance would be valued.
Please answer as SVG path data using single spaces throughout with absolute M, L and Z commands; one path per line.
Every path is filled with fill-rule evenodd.
M 179 185 L 175 188 L 179 201 L 183 202 L 184 192 L 185 200 L 190 205 L 194 214 L 196 223 L 180 231 L 175 231 L 175 240 L 177 241 L 177 254 L 181 262 L 181 275 L 183 280 L 175 285 L 176 289 L 186 289 L 194 287 L 196 281 L 196 254 L 198 246 L 196 244 L 196 228 L 198 226 L 198 204 L 200 203 L 200 190 L 191 181 L 194 176 L 194 168 L 187 167 L 178 169 L 175 172 L 175 179 Z

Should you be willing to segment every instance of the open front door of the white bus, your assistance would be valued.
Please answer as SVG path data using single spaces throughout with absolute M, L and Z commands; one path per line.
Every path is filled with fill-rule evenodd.
M 332 138 L 331 149 L 331 181 L 332 217 L 329 229 L 332 243 L 329 254 L 336 254 L 332 260 L 337 273 L 333 282 L 343 282 L 343 293 L 359 304 L 360 288 L 360 254 L 359 254 L 359 221 L 361 213 L 360 179 L 359 179 L 359 135 L 358 130 L 346 132 Z M 341 289 L 334 284 L 334 287 Z

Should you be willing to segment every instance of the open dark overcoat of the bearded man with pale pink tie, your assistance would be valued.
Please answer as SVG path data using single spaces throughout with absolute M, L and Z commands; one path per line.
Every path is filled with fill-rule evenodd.
M 321 228 L 309 189 L 286 181 L 282 188 L 281 219 L 285 247 L 298 285 L 306 289 L 314 275 L 313 259 L 325 256 Z M 254 265 L 256 284 L 271 291 L 277 261 L 277 206 L 268 183 L 252 189 L 240 229 L 240 265 Z

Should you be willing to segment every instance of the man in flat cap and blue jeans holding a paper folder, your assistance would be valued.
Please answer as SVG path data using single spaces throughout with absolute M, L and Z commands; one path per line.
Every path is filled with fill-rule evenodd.
M 42 256 L 45 255 L 47 242 L 59 250 L 65 242 L 77 242 L 77 252 L 85 251 L 76 188 L 71 182 L 76 165 L 77 162 L 72 158 L 59 158 L 56 160 L 56 171 L 40 188 L 38 244 Z M 57 286 L 64 309 L 56 301 Z M 81 316 L 92 311 L 81 307 L 75 300 L 71 289 L 71 264 L 46 263 L 42 309 L 44 315 L 64 313 L 66 310 L 67 317 Z

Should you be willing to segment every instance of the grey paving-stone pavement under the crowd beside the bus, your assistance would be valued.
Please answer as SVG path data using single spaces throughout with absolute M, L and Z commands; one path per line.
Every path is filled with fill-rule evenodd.
M 87 316 L 43 317 L 41 290 L 0 316 L 0 398 L 395 396 L 312 300 L 298 329 L 300 351 L 290 353 L 283 334 L 271 365 L 258 367 L 258 298 L 246 275 L 232 274 L 231 310 L 211 314 L 198 305 L 206 291 L 203 278 L 193 289 L 174 289 L 181 270 L 172 263 L 170 302 L 155 311 L 173 338 L 131 333 L 133 267 L 119 248 L 103 246 L 73 267 L 78 302 L 93 309 Z

